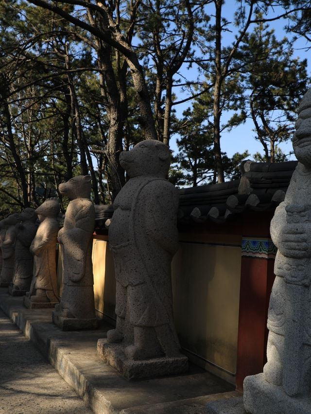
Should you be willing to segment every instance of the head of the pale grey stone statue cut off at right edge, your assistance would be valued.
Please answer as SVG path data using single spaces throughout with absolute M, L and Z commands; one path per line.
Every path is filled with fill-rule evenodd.
M 299 104 L 295 128 L 294 154 L 299 162 L 311 167 L 311 89 L 305 93 Z

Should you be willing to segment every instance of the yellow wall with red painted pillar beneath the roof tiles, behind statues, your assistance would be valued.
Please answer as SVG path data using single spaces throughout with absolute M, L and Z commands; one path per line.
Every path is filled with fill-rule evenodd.
M 261 372 L 265 362 L 266 312 L 274 278 L 273 256 L 256 247 L 270 239 L 259 238 L 256 244 L 242 236 L 243 227 L 262 238 L 269 234 L 270 220 L 270 214 L 260 220 L 244 215 L 242 222 L 231 225 L 182 228 L 172 261 L 174 319 L 183 352 L 239 390 L 245 376 Z M 248 251 L 245 241 L 260 251 Z M 92 260 L 97 317 L 113 325 L 115 276 L 107 234 L 94 234 Z M 61 280 L 59 259 L 60 293 Z

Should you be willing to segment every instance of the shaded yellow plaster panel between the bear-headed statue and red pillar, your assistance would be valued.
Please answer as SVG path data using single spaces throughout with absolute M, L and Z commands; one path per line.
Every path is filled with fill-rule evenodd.
M 172 262 L 175 326 L 189 357 L 235 382 L 241 239 L 181 236 Z

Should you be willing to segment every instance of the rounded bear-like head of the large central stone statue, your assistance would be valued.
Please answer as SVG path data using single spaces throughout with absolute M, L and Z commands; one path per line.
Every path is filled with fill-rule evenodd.
M 121 167 L 130 178 L 139 175 L 166 178 L 170 162 L 169 147 L 155 139 L 138 142 L 131 151 L 123 151 L 120 154 Z

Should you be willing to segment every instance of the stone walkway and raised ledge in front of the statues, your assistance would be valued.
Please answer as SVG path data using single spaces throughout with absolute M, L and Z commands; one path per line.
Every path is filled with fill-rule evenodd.
M 4 362 L 7 361 L 3 371 L 7 372 L 7 378 L 2 375 L 4 362 L 0 361 L 0 414 L 88 414 L 88 406 L 95 414 L 205 414 L 208 401 L 241 396 L 234 391 L 233 385 L 192 364 L 189 372 L 182 375 L 125 380 L 97 355 L 97 341 L 105 337 L 110 326 L 103 324 L 96 330 L 61 331 L 52 324 L 51 309 L 26 309 L 22 298 L 8 295 L 3 288 L 0 288 L 0 308 L 69 384 L 62 385 L 64 382 L 40 354 L 36 354 L 31 362 L 29 349 L 32 344 L 16 330 L 10 340 L 10 335 L 6 336 L 5 332 L 13 328 L 6 320 L 9 328 L 0 334 L 0 354 L 4 355 L 3 346 L 13 359 L 9 363 L 8 357 L 3 357 Z M 22 341 L 19 350 L 15 346 L 16 338 Z M 34 367 L 40 367 L 41 371 L 34 371 Z M 56 375 L 55 380 L 52 380 L 52 373 Z M 38 381 L 35 382 L 36 378 Z M 69 386 L 86 401 L 86 405 Z M 45 407 L 41 407 L 37 398 L 45 401 Z M 6 411 L 1 411 L 2 407 Z

